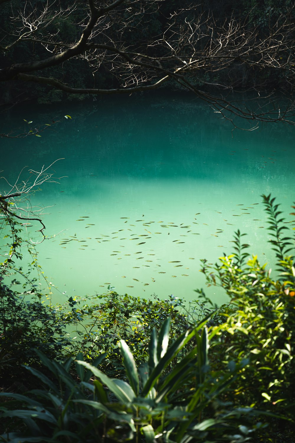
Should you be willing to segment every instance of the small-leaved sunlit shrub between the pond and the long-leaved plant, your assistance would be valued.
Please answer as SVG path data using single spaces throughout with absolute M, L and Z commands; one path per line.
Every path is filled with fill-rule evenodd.
M 118 346 L 120 339 L 126 341 L 139 365 L 148 356 L 151 331 L 160 329 L 167 317 L 171 319 L 170 339 L 174 340 L 210 312 L 205 303 L 198 300 L 185 305 L 183 299 L 173 295 L 165 300 L 156 297 L 147 300 L 119 295 L 113 289 L 109 287 L 107 294 L 87 297 L 87 304 L 84 304 L 86 299 L 70 299 L 72 309 L 64 313 L 69 322 L 76 322 L 76 347 L 86 360 L 91 362 L 106 352 L 103 370 L 110 376 L 124 370 Z M 187 352 L 188 346 L 191 345 L 181 352 Z

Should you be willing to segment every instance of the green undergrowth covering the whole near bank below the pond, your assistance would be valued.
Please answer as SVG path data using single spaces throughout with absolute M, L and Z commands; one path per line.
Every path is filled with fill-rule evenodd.
M 207 283 L 229 296 L 221 307 L 202 290 L 201 301 L 186 305 L 111 287 L 91 300 L 42 303 L 27 275 L 15 290 L 21 239 L 10 220 L 0 282 L 0 441 L 294 442 L 294 236 L 275 199 L 262 198 L 278 276 L 237 231 L 231 255 L 202 260 Z M 1 215 L 7 222 L 3 206 Z M 9 275 L 13 284 L 4 285 Z

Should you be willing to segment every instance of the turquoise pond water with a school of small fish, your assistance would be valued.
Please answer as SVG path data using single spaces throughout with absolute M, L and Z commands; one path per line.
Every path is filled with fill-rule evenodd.
M 26 165 L 40 170 L 64 158 L 53 169 L 65 177 L 31 197 L 46 207 L 46 235 L 53 237 L 36 248 L 54 300 L 103 293 L 111 284 L 119 293 L 186 300 L 203 287 L 222 303 L 219 288 L 206 288 L 199 260 L 230 254 L 237 229 L 272 266 L 260 195 L 276 196 L 291 221 L 293 127 L 232 132 L 194 97 L 159 93 L 14 108 L 2 132 L 23 128 L 23 119 L 62 120 L 42 137 L 1 140 L 8 180 Z M 41 239 L 37 229 L 28 228 L 33 241 Z

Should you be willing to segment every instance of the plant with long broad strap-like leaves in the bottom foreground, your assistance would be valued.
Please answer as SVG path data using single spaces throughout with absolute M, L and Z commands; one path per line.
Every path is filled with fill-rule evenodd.
M 228 369 L 209 368 L 209 337 L 202 326 L 207 319 L 189 328 L 169 344 L 170 320 L 166 319 L 157 334 L 153 329 L 149 341 L 149 358 L 139 369 L 124 340 L 119 347 L 123 357 L 125 379 L 111 379 L 95 365 L 76 361 L 77 376 L 70 373 L 71 359 L 61 365 L 38 352 L 44 365 L 57 379 L 57 385 L 42 372 L 27 367 L 44 385 L 27 396 L 0 393 L 2 398 L 19 402 L 18 409 L 2 410 L 2 422 L 8 418 L 23 420 L 23 432 L 5 430 L 5 442 L 139 442 L 158 441 L 247 441 L 261 427 L 251 425 L 257 412 L 253 408 L 234 408 L 219 397 L 230 389 L 247 361 L 229 365 Z M 211 334 L 211 338 L 214 335 Z M 165 374 L 179 351 L 190 342 L 195 346 L 179 358 Z M 80 354 L 77 358 L 81 358 Z M 103 355 L 96 361 L 100 364 Z M 84 368 L 83 368 L 84 366 Z M 91 375 L 96 380 L 90 379 Z M 128 382 L 127 382 L 128 381 Z M 24 406 L 25 405 L 25 406 Z M 15 425 L 14 425 L 15 426 Z M 21 427 L 21 424 L 19 424 Z

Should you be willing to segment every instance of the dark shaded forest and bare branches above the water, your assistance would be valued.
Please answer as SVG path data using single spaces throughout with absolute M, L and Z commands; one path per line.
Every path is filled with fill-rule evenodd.
M 226 117 L 286 120 L 293 109 L 294 2 L 1 0 L 2 103 L 132 93 L 164 86 L 190 90 Z M 280 89 L 288 102 L 260 108 Z M 267 113 L 268 112 L 268 113 Z

